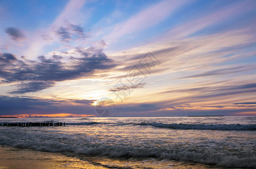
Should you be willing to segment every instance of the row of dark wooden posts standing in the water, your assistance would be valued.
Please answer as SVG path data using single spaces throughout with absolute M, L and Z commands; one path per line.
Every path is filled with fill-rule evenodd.
M 3 123 L 1 126 L 20 126 L 20 127 L 32 127 L 32 126 L 65 126 L 65 122 L 36 122 L 36 123 Z

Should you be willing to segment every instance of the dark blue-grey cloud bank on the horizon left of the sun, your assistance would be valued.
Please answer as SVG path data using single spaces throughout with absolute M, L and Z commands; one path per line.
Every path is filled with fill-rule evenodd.
M 0 115 L 14 114 L 94 114 L 93 100 L 82 100 L 87 104 L 74 105 L 78 100 L 50 100 L 36 97 L 0 96 Z

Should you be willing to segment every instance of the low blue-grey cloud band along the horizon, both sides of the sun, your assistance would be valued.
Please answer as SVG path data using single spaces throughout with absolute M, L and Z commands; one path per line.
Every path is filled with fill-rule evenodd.
M 50 100 L 37 97 L 8 97 L 0 96 L 0 115 L 15 114 L 95 114 L 95 106 L 91 104 L 95 100 Z M 80 103 L 80 104 L 74 104 Z M 248 112 L 253 115 L 255 109 L 178 109 L 168 106 L 173 110 L 164 110 L 167 106 L 162 103 L 123 104 L 116 106 L 113 117 L 163 117 L 163 116 L 187 116 L 187 115 L 234 115 Z M 157 113 L 156 113 L 157 111 Z

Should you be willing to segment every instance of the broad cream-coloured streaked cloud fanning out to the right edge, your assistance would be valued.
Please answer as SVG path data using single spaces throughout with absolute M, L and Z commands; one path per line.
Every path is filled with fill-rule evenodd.
M 255 69 L 254 63 L 236 65 L 230 63 L 236 59 L 254 55 L 247 51 L 237 51 L 238 47 L 244 48 L 250 43 L 255 43 L 254 37 L 255 33 L 250 30 L 236 30 L 177 41 L 152 43 L 116 52 L 112 54 L 112 57 L 118 63 L 125 63 L 117 71 L 129 71 L 135 64 L 138 64 L 144 54 L 151 51 L 161 62 L 161 66 L 153 70 L 155 74 L 160 75 L 172 71 L 173 74 L 178 75 L 177 79 L 248 73 Z M 186 73 L 183 73 L 185 71 Z

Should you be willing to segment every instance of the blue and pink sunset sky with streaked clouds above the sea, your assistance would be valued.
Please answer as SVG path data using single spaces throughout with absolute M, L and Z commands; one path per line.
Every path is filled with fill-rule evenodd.
M 255 8 L 0 0 L 0 117 L 256 115 Z

